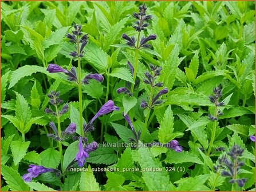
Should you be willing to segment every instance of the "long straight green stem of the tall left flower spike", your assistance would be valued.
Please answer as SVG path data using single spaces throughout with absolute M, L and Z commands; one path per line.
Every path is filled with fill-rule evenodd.
M 80 46 L 79 46 L 79 38 L 77 36 L 77 53 L 78 53 L 78 60 L 77 60 L 77 70 L 78 70 L 78 77 L 77 77 L 77 85 L 78 85 L 78 99 L 79 99 L 79 121 L 80 121 L 80 135 L 84 136 L 84 131 L 82 129 L 82 84 L 81 84 L 81 58 L 80 55 Z

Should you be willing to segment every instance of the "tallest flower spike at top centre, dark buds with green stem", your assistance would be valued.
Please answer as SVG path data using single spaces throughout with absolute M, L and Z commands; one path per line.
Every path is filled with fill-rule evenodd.
M 147 44 L 148 41 L 155 40 L 156 35 L 151 34 L 148 37 L 141 37 L 141 31 L 144 31 L 149 26 L 149 21 L 152 19 L 152 15 L 147 15 L 147 6 L 145 3 L 143 5 L 139 6 L 139 13 L 133 13 L 132 17 L 134 17 L 137 21 L 135 22 L 135 25 L 132 27 L 137 31 L 137 38 L 135 37 L 129 37 L 127 34 L 123 34 L 122 37 L 125 39 L 127 45 L 131 46 L 133 49 L 135 49 L 135 65 L 133 69 L 133 81 L 136 82 L 136 75 L 137 75 L 137 69 L 138 69 L 138 61 L 139 61 L 139 49 L 141 48 L 149 48 L 150 45 Z M 130 69 L 131 69 L 131 63 L 129 63 Z M 133 93 L 133 90 L 135 88 L 135 85 L 131 85 L 131 94 Z

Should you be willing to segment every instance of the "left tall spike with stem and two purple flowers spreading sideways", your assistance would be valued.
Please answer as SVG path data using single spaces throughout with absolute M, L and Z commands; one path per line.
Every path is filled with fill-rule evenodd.
M 82 71 L 81 71 L 81 58 L 84 57 L 85 51 L 84 47 L 88 43 L 88 34 L 83 34 L 81 25 L 74 24 L 74 30 L 72 34 L 68 33 L 66 38 L 69 39 L 70 43 L 74 44 L 75 50 L 70 52 L 69 55 L 72 56 L 74 59 L 77 59 L 77 72 L 76 67 L 72 66 L 71 70 L 64 69 L 56 64 L 50 64 L 48 66 L 49 73 L 65 73 L 68 76 L 69 81 L 74 81 L 77 83 L 78 87 L 78 102 L 79 102 L 79 120 L 80 120 L 80 135 L 83 136 L 82 131 L 82 84 L 88 84 L 90 79 L 95 79 L 102 83 L 104 81 L 104 77 L 101 74 L 92 74 L 89 73 L 82 78 Z

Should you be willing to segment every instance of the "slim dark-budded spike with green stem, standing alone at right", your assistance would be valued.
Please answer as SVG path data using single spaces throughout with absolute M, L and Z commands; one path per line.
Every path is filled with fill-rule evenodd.
M 211 147 L 212 144 L 214 142 L 214 138 L 215 138 L 215 132 L 216 132 L 216 126 L 218 123 L 218 117 L 220 115 L 223 115 L 222 111 L 220 111 L 220 109 L 218 109 L 219 106 L 224 106 L 225 103 L 223 102 L 219 102 L 219 98 L 222 97 L 222 89 L 220 87 L 215 87 L 213 89 L 213 93 L 214 95 L 210 95 L 209 96 L 209 100 L 214 103 L 214 115 L 209 114 L 208 118 L 213 121 L 213 125 L 212 125 L 212 132 L 211 132 L 211 140 L 210 140 L 210 145 L 208 147 L 208 151 L 207 151 L 207 155 L 210 155 L 211 153 Z

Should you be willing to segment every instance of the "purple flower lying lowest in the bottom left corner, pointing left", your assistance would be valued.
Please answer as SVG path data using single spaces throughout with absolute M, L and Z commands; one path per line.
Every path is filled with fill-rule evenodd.
M 26 182 L 31 182 L 33 178 L 36 178 L 38 175 L 42 174 L 42 173 L 46 173 L 46 172 L 53 172 L 54 169 L 48 169 L 44 166 L 40 166 L 40 165 L 29 165 L 29 169 L 27 169 L 27 171 L 29 171 L 29 173 L 26 173 L 22 176 L 22 179 Z

